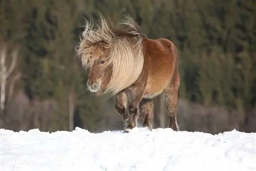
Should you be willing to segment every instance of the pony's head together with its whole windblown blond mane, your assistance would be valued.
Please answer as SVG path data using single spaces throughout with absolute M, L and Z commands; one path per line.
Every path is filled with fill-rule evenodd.
M 102 15 L 100 19 L 96 29 L 86 20 L 77 52 L 88 71 L 88 89 L 115 95 L 136 81 L 142 71 L 143 36 L 131 17 L 120 23 L 124 29 L 114 28 Z

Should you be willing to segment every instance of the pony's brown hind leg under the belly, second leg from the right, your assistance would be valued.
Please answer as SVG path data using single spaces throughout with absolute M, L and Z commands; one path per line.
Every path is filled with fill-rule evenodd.
M 152 99 L 142 99 L 140 102 L 140 115 L 144 118 L 143 127 L 153 129 L 154 102 Z

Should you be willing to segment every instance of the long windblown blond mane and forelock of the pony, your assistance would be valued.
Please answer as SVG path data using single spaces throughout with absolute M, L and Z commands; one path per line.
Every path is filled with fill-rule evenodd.
M 100 50 L 108 52 L 109 61 L 105 67 L 112 65 L 113 71 L 105 93 L 117 94 L 131 86 L 139 77 L 144 63 L 144 50 L 140 28 L 132 17 L 119 24 L 125 29 L 114 28 L 111 22 L 100 14 L 101 26 L 93 28 L 92 21 L 86 20 L 85 30 L 78 46 L 78 55 L 84 67 L 90 68 L 99 57 Z

